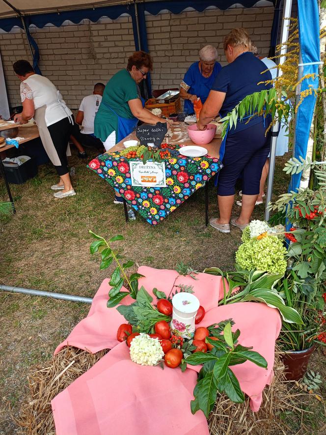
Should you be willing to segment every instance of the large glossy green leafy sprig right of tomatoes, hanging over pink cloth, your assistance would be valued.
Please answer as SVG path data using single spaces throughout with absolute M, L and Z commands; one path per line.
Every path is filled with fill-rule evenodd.
M 197 384 L 193 390 L 194 400 L 190 403 L 192 414 L 201 409 L 206 418 L 216 402 L 217 393 L 225 393 L 235 403 L 245 400 L 239 381 L 230 366 L 251 361 L 259 367 L 267 368 L 266 359 L 258 352 L 237 344 L 240 331 L 231 330 L 231 321 L 225 321 L 223 334 L 218 340 L 206 337 L 206 342 L 213 346 L 208 353 L 195 352 L 185 362 L 190 365 L 203 364 L 199 372 Z

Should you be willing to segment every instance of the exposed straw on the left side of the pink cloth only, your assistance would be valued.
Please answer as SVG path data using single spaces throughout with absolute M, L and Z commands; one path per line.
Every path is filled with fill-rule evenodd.
M 87 372 L 108 350 L 91 354 L 65 347 L 45 367 L 33 368 L 27 377 L 28 393 L 14 421 L 21 434 L 55 435 L 51 400 L 75 379 Z

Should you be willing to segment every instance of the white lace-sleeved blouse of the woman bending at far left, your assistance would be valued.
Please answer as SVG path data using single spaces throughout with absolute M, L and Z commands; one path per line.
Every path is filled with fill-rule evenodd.
M 47 127 L 72 115 L 60 92 L 46 77 L 32 74 L 21 83 L 20 92 L 22 103 L 27 98 L 34 100 L 35 110 L 46 106 L 45 122 Z

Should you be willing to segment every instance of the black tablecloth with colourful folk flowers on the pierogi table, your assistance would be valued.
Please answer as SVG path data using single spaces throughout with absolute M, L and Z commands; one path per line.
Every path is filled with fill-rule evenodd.
M 164 159 L 166 187 L 132 186 L 129 160 L 118 151 L 99 155 L 87 167 L 108 181 L 148 223 L 157 225 L 222 168 L 217 158 L 208 155 L 174 154 Z

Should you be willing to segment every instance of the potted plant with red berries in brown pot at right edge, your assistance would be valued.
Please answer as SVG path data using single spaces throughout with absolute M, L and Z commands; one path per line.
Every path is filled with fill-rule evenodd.
M 293 173 L 305 164 L 290 160 L 285 170 Z M 315 171 L 315 176 L 319 182 L 317 190 L 299 189 L 281 195 L 270 205 L 292 222 L 285 234 L 289 241 L 288 268 L 275 290 L 303 321 L 302 325 L 283 322 L 279 337 L 287 378 L 293 380 L 304 375 L 315 343 L 326 342 L 325 333 L 321 332 L 326 315 L 326 173 Z

